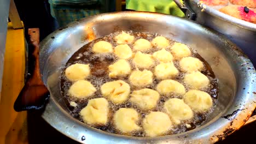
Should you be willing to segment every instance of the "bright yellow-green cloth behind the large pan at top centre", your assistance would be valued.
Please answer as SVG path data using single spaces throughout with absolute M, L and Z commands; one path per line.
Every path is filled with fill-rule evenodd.
M 126 9 L 185 16 L 172 0 L 126 0 Z

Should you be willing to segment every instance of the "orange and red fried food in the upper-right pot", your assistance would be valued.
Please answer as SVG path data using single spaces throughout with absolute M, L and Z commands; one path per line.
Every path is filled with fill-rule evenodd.
M 224 14 L 236 17 L 237 19 L 252 22 L 256 24 L 256 10 L 248 8 L 248 13 L 245 11 L 245 7 L 241 5 L 228 5 L 219 9 Z

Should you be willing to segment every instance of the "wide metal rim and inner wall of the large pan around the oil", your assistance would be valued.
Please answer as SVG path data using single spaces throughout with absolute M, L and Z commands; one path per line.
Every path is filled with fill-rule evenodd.
M 159 33 L 197 50 L 219 79 L 216 109 L 201 127 L 159 137 L 132 137 L 88 127 L 69 115 L 60 93 L 60 70 L 89 41 L 115 31 Z M 40 72 L 51 97 L 43 118 L 82 143 L 213 143 L 240 128 L 256 106 L 256 77 L 251 61 L 228 39 L 211 29 L 170 15 L 126 11 L 100 14 L 70 23 L 40 43 Z

